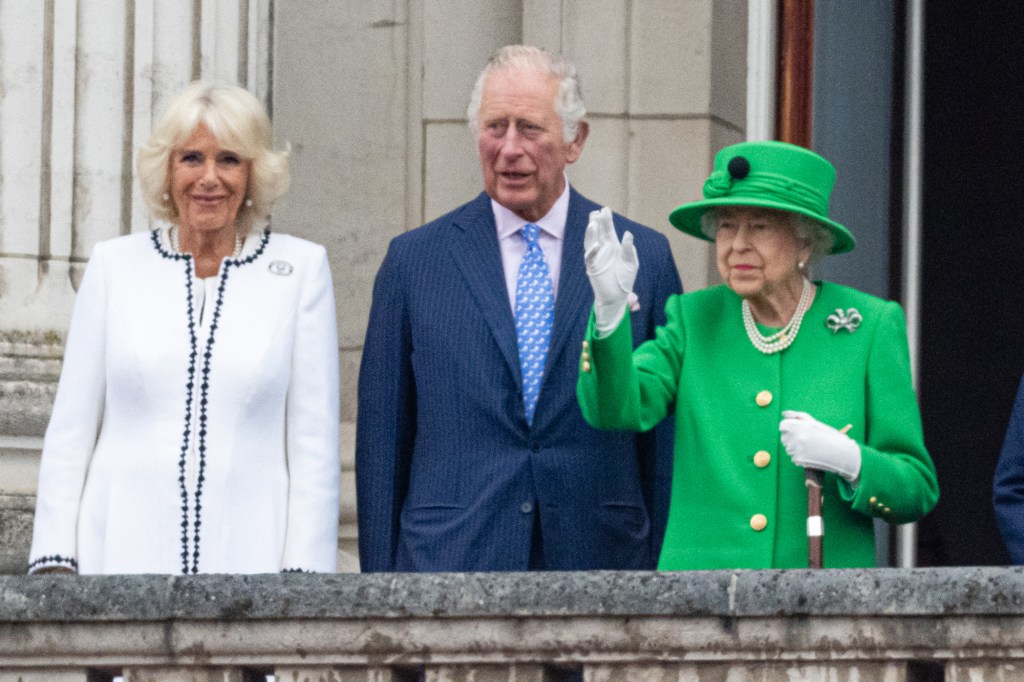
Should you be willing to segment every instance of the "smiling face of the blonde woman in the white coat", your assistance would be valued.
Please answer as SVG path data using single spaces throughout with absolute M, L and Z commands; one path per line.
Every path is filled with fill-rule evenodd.
M 182 230 L 234 229 L 250 162 L 225 150 L 202 123 L 171 153 L 171 198 Z

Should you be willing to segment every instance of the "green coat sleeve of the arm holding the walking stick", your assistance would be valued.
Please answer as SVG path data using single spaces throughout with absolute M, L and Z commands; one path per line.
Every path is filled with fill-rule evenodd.
M 895 303 L 872 340 L 867 360 L 864 442 L 860 443 L 860 481 L 843 497 L 862 513 L 891 523 L 914 521 L 935 507 L 939 485 L 925 449 L 921 412 L 910 381 L 906 322 Z

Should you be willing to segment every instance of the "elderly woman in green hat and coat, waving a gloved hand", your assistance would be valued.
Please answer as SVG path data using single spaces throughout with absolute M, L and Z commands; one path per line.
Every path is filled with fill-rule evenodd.
M 643 431 L 675 411 L 662 569 L 807 566 L 805 467 L 825 472 L 825 566 L 872 565 L 872 518 L 913 521 L 938 501 L 902 310 L 810 278 L 818 258 L 854 247 L 828 218 L 835 177 L 784 142 L 722 150 L 705 199 L 670 220 L 715 242 L 725 285 L 671 298 L 636 351 L 632 237 L 620 243 L 607 209 L 591 215 L 578 396 L 603 429 Z

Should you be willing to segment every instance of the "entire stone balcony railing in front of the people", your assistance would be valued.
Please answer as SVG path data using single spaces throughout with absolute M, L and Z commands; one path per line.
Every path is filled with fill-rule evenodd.
M 1016 568 L 0 577 L 0 681 L 1024 679 Z

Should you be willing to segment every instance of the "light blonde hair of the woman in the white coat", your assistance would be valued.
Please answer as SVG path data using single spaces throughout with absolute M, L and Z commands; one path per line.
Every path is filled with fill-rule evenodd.
M 171 154 L 200 124 L 220 145 L 251 163 L 246 197 L 252 205 L 243 203 L 236 219 L 238 229 L 248 232 L 253 222 L 269 215 L 273 202 L 288 191 L 288 152 L 271 148 L 270 120 L 263 105 L 251 92 L 236 85 L 197 81 L 171 99 L 135 160 L 145 204 L 154 217 L 177 220 L 174 202 L 164 199 L 171 187 Z

